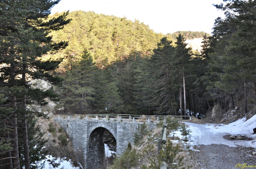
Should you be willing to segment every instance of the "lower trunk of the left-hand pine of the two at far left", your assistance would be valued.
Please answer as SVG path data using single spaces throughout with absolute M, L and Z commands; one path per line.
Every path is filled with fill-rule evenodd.
M 19 146 L 18 146 L 18 129 L 17 129 L 17 115 L 13 115 L 12 126 L 14 130 L 12 131 L 12 145 L 13 145 L 13 167 L 20 169 L 20 159 L 19 159 Z

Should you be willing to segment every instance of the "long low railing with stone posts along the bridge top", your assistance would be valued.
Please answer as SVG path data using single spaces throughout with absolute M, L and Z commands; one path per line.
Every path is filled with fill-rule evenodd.
M 80 115 L 80 114 L 72 114 L 72 115 L 52 115 L 50 117 L 55 117 L 59 119 L 94 119 L 94 120 L 114 120 L 114 121 L 126 121 L 126 122 L 160 122 L 163 120 L 166 122 L 167 118 L 182 118 L 189 117 L 191 120 L 191 116 L 145 116 L 145 115 L 123 115 L 123 114 L 97 114 L 97 115 Z

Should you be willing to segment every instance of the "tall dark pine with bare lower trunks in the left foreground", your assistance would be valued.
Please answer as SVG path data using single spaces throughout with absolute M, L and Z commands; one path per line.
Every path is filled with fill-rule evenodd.
M 59 1 L 2 1 L 0 11 L 0 46 L 1 88 L 7 95 L 2 107 L 16 108 L 11 118 L 13 132 L 13 167 L 20 168 L 18 150 L 17 116 L 23 118 L 23 141 L 25 168 L 30 168 L 28 135 L 26 124 L 26 105 L 31 103 L 46 104 L 44 98 L 56 98 L 53 89 L 42 91 L 34 89 L 29 84 L 30 79 L 43 79 L 52 84 L 58 84 L 53 71 L 62 59 L 42 61 L 40 57 L 48 51 L 59 50 L 67 45 L 66 42 L 53 42 L 48 36 L 51 30 L 59 30 L 70 22 L 65 20 L 64 13 L 59 17 L 48 20 L 50 8 Z M 21 77 L 21 78 L 19 78 Z

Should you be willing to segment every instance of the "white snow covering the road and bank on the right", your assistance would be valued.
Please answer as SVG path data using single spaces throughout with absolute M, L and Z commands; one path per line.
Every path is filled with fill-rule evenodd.
M 246 146 L 256 148 L 256 134 L 253 134 L 253 128 L 256 127 L 256 115 L 245 121 L 246 118 L 237 120 L 228 125 L 223 124 L 195 124 L 189 125 L 191 147 L 194 145 L 224 144 L 231 147 Z M 227 140 L 224 135 L 240 135 L 252 138 L 252 140 Z

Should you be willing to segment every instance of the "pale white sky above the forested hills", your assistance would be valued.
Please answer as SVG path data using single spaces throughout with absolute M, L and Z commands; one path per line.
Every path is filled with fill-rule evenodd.
M 94 11 L 135 19 L 149 25 L 156 33 L 176 31 L 212 32 L 214 20 L 224 17 L 213 4 L 222 0 L 61 0 L 52 8 L 52 14 L 69 10 Z

